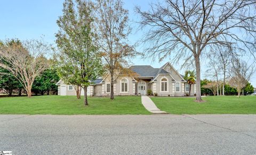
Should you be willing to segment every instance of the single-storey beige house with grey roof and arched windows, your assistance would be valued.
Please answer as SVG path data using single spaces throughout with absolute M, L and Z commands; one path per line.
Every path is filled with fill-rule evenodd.
M 161 68 L 149 65 L 134 65 L 129 67 L 134 75 L 119 73 L 114 77 L 114 95 L 145 95 L 147 90 L 152 90 L 158 96 L 185 96 L 189 92 L 189 84 L 183 75 L 170 64 L 166 63 Z M 97 79 L 87 88 L 88 96 L 110 96 L 110 75 Z M 66 85 L 59 81 L 58 94 L 61 96 L 75 96 L 73 85 Z M 196 85 L 191 85 L 190 95 L 196 92 Z M 84 95 L 82 90 L 81 95 Z

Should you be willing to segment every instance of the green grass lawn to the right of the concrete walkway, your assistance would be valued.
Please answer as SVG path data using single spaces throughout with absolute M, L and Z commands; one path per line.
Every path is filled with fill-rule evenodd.
M 211 96 L 195 98 L 152 97 L 156 106 L 171 114 L 256 114 L 256 96 Z

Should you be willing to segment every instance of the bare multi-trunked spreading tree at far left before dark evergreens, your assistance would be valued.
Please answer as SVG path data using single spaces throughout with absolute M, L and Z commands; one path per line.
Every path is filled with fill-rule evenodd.
M 8 42 L 8 41 L 6 41 Z M 19 80 L 28 97 L 31 97 L 31 88 L 35 77 L 48 67 L 44 54 L 50 46 L 42 40 L 26 40 L 21 44 L 2 46 L 0 49 L 0 66 L 10 71 Z

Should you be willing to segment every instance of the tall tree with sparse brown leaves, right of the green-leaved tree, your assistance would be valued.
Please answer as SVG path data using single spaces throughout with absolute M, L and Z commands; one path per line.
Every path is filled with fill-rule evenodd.
M 114 99 L 114 75 L 124 68 L 129 57 L 137 53 L 127 43 L 131 33 L 128 10 L 121 0 L 97 0 L 95 16 L 99 47 L 110 74 L 110 99 Z

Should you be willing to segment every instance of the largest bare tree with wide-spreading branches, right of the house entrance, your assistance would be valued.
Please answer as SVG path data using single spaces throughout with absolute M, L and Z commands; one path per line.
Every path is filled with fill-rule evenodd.
M 200 60 L 212 46 L 254 54 L 255 5 L 255 0 L 165 0 L 150 4 L 149 11 L 136 7 L 141 15 L 140 28 L 148 30 L 142 39 L 147 46 L 145 53 L 159 60 L 171 54 L 176 61 L 193 59 L 198 81 L 196 101 L 201 101 Z

